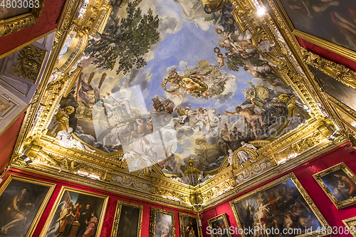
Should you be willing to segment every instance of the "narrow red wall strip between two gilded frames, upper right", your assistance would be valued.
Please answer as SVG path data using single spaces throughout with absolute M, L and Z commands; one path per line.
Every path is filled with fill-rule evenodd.
M 320 57 L 326 58 L 328 60 L 332 60 L 335 63 L 340 63 L 342 65 L 345 65 L 347 68 L 356 70 L 356 63 L 354 60 L 340 56 L 339 54 L 328 51 L 325 48 L 321 48 L 320 46 L 310 43 L 309 41 L 303 40 L 303 38 L 297 37 L 297 39 L 300 43 L 300 46 L 306 48 L 308 51 L 316 53 Z

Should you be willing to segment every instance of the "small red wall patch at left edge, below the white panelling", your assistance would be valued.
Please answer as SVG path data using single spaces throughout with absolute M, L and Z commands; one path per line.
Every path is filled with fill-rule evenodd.
M 20 115 L 20 117 L 0 136 L 0 174 L 9 163 L 25 115 L 26 112 Z

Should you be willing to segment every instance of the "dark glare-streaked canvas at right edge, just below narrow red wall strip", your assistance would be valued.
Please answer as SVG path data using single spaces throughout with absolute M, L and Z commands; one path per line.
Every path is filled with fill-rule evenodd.
M 313 72 L 320 80 L 326 93 L 343 102 L 348 107 L 356 111 L 356 90 L 349 88 L 347 85 L 340 83 L 318 69 L 313 68 Z

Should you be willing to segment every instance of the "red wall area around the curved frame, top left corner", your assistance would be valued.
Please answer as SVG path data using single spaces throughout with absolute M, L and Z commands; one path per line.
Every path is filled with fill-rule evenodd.
M 46 0 L 42 15 L 35 26 L 28 26 L 21 31 L 11 33 L 9 36 L 0 37 L 0 56 L 55 29 L 65 3 L 66 0 Z

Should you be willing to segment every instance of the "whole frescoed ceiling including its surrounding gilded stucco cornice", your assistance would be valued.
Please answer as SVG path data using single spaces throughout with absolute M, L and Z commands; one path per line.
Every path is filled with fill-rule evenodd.
M 345 142 L 265 4 L 83 1 L 16 147 L 34 162 L 16 164 L 207 205 Z

